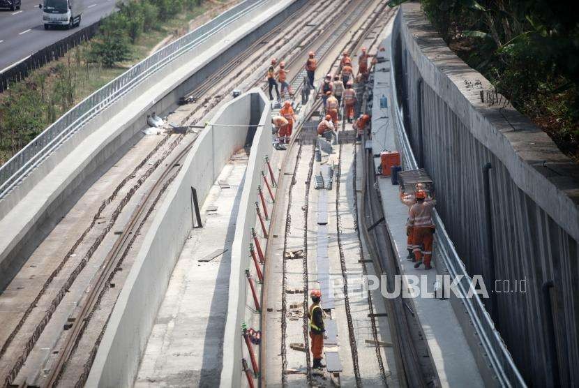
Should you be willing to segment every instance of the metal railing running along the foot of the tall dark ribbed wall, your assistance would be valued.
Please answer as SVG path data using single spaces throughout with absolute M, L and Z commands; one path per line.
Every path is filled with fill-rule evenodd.
M 393 42 L 393 40 L 392 40 Z M 391 46 L 391 52 L 394 53 L 393 44 Z M 400 140 L 400 146 L 403 151 L 403 167 L 405 170 L 416 170 L 418 168 L 418 163 L 416 163 L 416 158 L 414 157 L 414 151 L 410 147 L 410 141 L 408 139 L 406 129 L 404 126 L 404 115 L 403 108 L 398 105 L 398 96 L 396 94 L 396 76 L 395 76 L 395 62 L 391 60 L 391 85 L 392 85 L 392 105 L 395 111 L 395 119 L 393 120 L 394 126 L 396 126 L 396 132 L 398 133 L 398 139 Z M 458 276 L 462 276 L 457 284 L 457 290 L 460 294 L 460 298 L 463 301 L 463 306 L 469 315 L 472 322 L 474 330 L 478 337 L 480 338 L 481 346 L 483 347 L 488 361 L 490 362 L 490 368 L 495 372 L 497 376 L 497 382 L 501 387 L 526 387 L 527 384 L 523 380 L 520 372 L 515 365 L 511 353 L 506 348 L 501 335 L 495 328 L 490 314 L 486 311 L 479 294 L 473 293 L 472 297 L 467 297 L 469 291 L 474 292 L 474 286 L 472 285 L 472 278 L 467 274 L 465 264 L 451 241 L 449 235 L 446 233 L 444 228 L 444 223 L 438 215 L 437 211 L 434 211 L 434 222 L 436 225 L 435 233 L 435 244 L 437 248 L 436 257 L 442 259 L 446 268 L 449 270 L 451 278 L 456 279 Z

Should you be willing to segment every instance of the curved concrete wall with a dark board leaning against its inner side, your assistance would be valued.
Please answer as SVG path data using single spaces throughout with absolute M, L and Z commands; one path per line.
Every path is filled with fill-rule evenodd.
M 211 120 L 215 125 L 203 130 L 183 161 L 116 301 L 87 387 L 133 385 L 174 264 L 192 229 L 190 188 L 202 203 L 230 156 L 243 148 L 248 134 L 243 126 L 250 124 L 252 111 L 265 106 L 256 96 L 261 95 L 243 94 L 219 110 Z

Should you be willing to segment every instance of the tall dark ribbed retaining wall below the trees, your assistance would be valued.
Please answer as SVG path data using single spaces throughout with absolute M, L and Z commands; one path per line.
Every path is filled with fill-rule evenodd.
M 483 274 L 489 292 L 498 280 L 485 303 L 513 359 L 533 385 L 549 385 L 551 370 L 553 381 L 579 384 L 578 166 L 529 119 L 489 103 L 490 82 L 449 50 L 419 4 L 400 8 L 393 47 L 412 148 L 468 273 Z

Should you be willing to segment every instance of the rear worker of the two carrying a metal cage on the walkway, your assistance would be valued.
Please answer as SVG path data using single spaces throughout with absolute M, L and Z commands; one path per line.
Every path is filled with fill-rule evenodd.
M 414 268 L 420 267 L 424 262 L 424 269 L 431 269 L 430 260 L 433 257 L 433 234 L 435 225 L 433 223 L 433 209 L 436 200 L 426 200 L 426 191 L 416 191 L 416 203 L 410 208 L 408 224 L 413 228 L 412 246 L 416 264 Z M 423 247 L 421 251 L 420 246 Z

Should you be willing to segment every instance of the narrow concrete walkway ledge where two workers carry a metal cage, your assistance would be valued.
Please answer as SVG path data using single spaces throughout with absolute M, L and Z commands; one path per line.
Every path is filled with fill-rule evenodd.
M 391 29 L 391 24 L 389 28 Z M 382 46 L 390 47 L 390 36 L 384 40 Z M 396 129 L 393 127 L 390 110 L 389 108 L 381 108 L 379 101 L 383 94 L 389 101 L 392 100 L 389 61 L 375 65 L 374 77 L 372 151 L 373 154 L 379 154 L 384 149 L 397 149 Z M 379 165 L 379 158 L 375 158 L 375 165 L 376 167 Z M 379 178 L 378 186 L 386 225 L 398 253 L 401 271 L 404 275 L 426 276 L 428 292 L 433 292 L 437 271 L 426 271 L 423 267 L 414 269 L 414 263 L 406 260 L 405 225 L 408 207 L 399 200 L 399 186 L 392 185 L 389 177 Z M 434 260 L 434 264 L 437 267 L 436 260 Z M 420 296 L 415 297 L 413 301 L 442 386 L 484 387 L 474 355 L 451 306 L 451 301 Z

